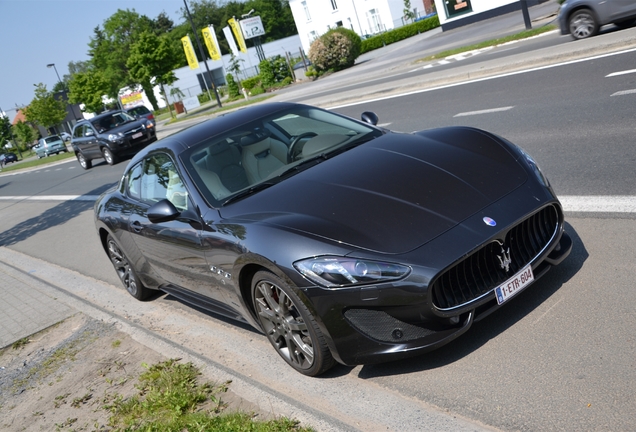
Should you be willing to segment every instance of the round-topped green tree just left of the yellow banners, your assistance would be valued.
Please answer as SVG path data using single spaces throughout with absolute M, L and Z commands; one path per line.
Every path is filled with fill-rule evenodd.
M 155 33 L 145 31 L 131 46 L 126 66 L 131 78 L 135 81 L 148 83 L 154 81 L 156 85 L 160 85 L 163 97 L 168 102 L 164 85 L 170 85 L 177 80 L 172 70 L 179 65 L 179 54 L 178 47 L 168 36 L 157 36 Z M 155 99 L 154 94 L 152 99 L 148 93 L 146 96 L 151 102 Z M 156 104 L 155 100 L 152 104 L 155 109 L 157 109 Z

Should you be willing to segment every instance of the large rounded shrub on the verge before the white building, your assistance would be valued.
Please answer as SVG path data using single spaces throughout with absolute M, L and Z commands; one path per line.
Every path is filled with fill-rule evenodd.
M 319 74 L 353 66 L 355 47 L 351 39 L 338 31 L 328 31 L 309 47 L 309 60 Z

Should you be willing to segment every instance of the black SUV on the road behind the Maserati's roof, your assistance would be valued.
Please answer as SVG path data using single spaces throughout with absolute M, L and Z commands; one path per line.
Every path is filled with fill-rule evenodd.
M 124 111 L 108 111 L 77 122 L 71 145 L 82 168 L 89 169 L 93 159 L 104 158 L 114 165 L 155 141 L 157 133 L 151 121 L 135 119 Z

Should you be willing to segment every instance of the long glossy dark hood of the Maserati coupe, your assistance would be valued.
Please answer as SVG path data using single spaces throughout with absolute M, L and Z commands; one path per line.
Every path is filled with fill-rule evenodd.
M 405 253 L 519 187 L 526 171 L 469 128 L 389 133 L 221 208 L 380 253 Z

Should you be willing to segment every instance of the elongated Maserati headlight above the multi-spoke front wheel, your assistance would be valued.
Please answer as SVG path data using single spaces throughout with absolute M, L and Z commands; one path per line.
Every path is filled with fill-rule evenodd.
M 407 266 L 347 257 L 318 257 L 296 261 L 294 267 L 310 281 L 327 288 L 348 288 L 402 279 Z

